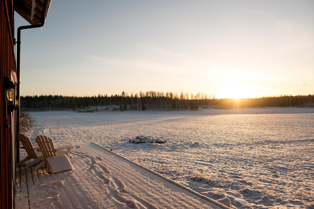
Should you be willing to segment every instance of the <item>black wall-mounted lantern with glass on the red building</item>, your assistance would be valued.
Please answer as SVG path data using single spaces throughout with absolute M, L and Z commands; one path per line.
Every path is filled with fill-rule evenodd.
M 5 96 L 5 115 L 8 116 L 11 112 L 13 112 L 17 106 L 15 103 L 15 84 L 9 80 L 8 77 L 3 77 L 3 84 L 4 84 L 4 96 Z M 9 125 L 7 124 L 8 118 L 5 121 L 5 127 L 8 128 Z

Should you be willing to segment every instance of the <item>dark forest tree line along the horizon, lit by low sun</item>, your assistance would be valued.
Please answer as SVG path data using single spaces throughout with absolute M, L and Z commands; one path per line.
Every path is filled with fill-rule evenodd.
M 249 108 L 249 107 L 314 107 L 314 94 L 274 96 L 247 99 L 216 99 L 215 95 L 203 93 L 180 94 L 147 91 L 127 94 L 62 96 L 21 96 L 23 110 L 198 110 L 199 108 Z

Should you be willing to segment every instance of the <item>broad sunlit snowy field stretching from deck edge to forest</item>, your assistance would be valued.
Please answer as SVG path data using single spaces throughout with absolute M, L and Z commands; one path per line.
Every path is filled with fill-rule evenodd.
M 31 140 L 95 142 L 234 208 L 314 208 L 314 108 L 30 114 Z

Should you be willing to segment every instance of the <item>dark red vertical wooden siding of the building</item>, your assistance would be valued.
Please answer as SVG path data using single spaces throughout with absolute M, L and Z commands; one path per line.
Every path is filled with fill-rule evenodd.
M 12 129 L 5 128 L 6 114 L 4 104 L 3 77 L 10 78 L 10 70 L 16 70 L 14 56 L 14 20 L 12 1 L 0 0 L 0 206 L 13 207 L 13 165 Z M 14 121 L 15 123 L 15 121 Z M 8 124 L 12 124 L 11 114 Z M 15 130 L 15 129 L 14 129 Z

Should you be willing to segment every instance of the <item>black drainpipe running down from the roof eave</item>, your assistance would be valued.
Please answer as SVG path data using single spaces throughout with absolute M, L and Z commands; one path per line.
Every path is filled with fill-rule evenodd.
M 25 26 L 20 26 L 18 28 L 18 40 L 17 40 L 17 56 L 16 56 L 16 74 L 18 77 L 18 83 L 17 83 L 17 89 L 16 89 L 16 96 L 19 99 L 19 108 L 16 111 L 16 136 L 15 136 L 15 141 L 16 141 L 16 162 L 19 162 L 19 139 L 18 139 L 18 134 L 19 134 L 19 114 L 20 114 L 20 69 L 21 69 L 21 30 L 23 29 L 29 29 L 29 28 L 40 28 L 43 27 L 45 24 L 45 18 L 47 15 L 47 10 L 49 7 L 51 0 L 45 0 L 45 3 L 43 4 L 43 11 L 42 11 L 42 16 L 41 16 L 41 23 L 37 25 L 25 25 Z

